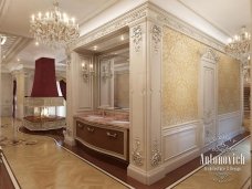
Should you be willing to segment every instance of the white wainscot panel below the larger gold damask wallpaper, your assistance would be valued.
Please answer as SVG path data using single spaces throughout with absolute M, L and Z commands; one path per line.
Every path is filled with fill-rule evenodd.
M 165 172 L 170 172 L 200 155 L 200 122 L 162 128 Z

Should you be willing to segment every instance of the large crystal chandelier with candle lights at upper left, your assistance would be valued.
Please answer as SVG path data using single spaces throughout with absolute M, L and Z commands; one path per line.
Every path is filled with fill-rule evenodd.
M 80 36 L 78 24 L 75 19 L 70 19 L 59 8 L 59 2 L 53 2 L 53 8 L 42 14 L 32 14 L 30 21 L 31 32 L 36 41 L 53 49 L 66 48 Z

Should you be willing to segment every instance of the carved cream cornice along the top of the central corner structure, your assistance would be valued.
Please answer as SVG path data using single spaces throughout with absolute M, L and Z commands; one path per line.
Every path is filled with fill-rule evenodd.
M 224 52 L 224 44 L 213 39 L 212 36 L 203 33 L 202 31 L 196 29 L 195 27 L 183 22 L 177 17 L 168 13 L 164 9 L 151 2 L 145 2 L 135 9 L 124 13 L 123 15 L 103 24 L 102 27 L 91 31 L 90 33 L 81 36 L 78 42 L 71 49 L 76 50 L 83 45 L 86 45 L 99 38 L 103 38 L 112 32 L 120 30 L 125 27 L 129 27 L 137 20 L 148 18 L 154 22 L 167 25 L 176 31 L 179 31 L 208 46 L 211 46 L 220 52 Z

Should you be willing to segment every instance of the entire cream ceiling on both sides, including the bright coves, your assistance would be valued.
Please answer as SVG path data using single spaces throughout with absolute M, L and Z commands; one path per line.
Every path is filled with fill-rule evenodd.
M 82 34 L 145 1 L 156 3 L 222 43 L 227 42 L 229 35 L 239 32 L 242 25 L 250 27 L 252 22 L 250 0 L 59 0 L 61 9 L 74 15 L 82 24 Z M 31 38 L 29 32 L 31 14 L 46 11 L 52 7 L 52 2 L 53 0 L 0 0 L 0 33 L 11 33 L 24 45 L 24 41 Z M 13 42 L 13 39 L 10 39 L 8 43 L 18 45 L 18 41 Z M 43 45 L 34 46 L 34 42 L 31 42 L 18 52 L 17 50 L 21 50 L 23 45 L 14 48 L 9 44 L 8 49 L 14 51 L 10 53 L 12 59 L 8 61 L 13 62 L 17 57 L 21 57 L 21 61 L 31 63 L 38 56 L 46 55 L 55 56 L 62 62 L 64 54 L 62 51 L 52 52 Z M 7 53 L 9 50 L 3 51 Z

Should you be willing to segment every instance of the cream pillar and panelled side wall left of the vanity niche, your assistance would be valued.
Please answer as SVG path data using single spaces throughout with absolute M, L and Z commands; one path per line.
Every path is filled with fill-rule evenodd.
M 65 143 L 75 145 L 74 115 L 84 111 L 92 111 L 93 103 L 93 75 L 83 75 L 82 63 L 93 64 L 92 55 L 82 55 L 76 52 L 67 53 L 66 61 L 66 132 Z M 94 65 L 93 65 L 94 66 Z M 94 66 L 95 69 L 95 66 Z

